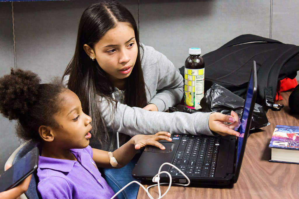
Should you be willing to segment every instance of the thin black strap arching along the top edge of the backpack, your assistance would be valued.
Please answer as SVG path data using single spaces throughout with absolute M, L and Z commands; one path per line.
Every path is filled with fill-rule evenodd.
M 245 35 L 240 35 L 240 36 L 232 39 L 231 41 L 227 42 L 220 48 L 234 46 L 234 45 L 238 45 L 238 44 L 244 44 L 244 43 L 248 43 L 248 42 L 258 42 L 258 41 L 268 42 L 268 43 L 281 43 L 280 41 L 277 41 L 274 39 L 269 39 L 266 37 L 261 37 L 261 36 L 252 35 L 252 34 L 245 34 Z

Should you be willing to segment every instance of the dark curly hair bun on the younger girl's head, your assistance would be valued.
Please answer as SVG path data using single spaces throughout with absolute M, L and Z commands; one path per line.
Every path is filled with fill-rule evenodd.
M 39 76 L 28 70 L 11 69 L 0 78 L 0 112 L 9 120 L 20 118 L 37 100 Z

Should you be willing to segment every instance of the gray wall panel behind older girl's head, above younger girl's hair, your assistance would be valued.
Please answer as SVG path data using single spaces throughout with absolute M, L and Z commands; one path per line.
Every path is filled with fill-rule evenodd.
M 16 65 L 33 70 L 43 82 L 62 76 L 74 55 L 77 30 L 88 1 L 16 2 Z M 125 5 L 137 17 L 137 4 Z M 135 12 L 134 12 L 135 11 Z

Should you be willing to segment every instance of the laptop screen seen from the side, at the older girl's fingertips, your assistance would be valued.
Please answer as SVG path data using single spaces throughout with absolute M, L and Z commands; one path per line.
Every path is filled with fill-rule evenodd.
M 254 62 L 254 67 L 251 70 L 251 75 L 250 75 L 250 79 L 249 79 L 249 83 L 248 83 L 248 89 L 247 89 L 247 93 L 246 93 L 246 98 L 245 98 L 245 103 L 244 103 L 244 109 L 243 109 L 242 118 L 241 118 L 241 125 L 239 127 L 240 137 L 238 138 L 237 165 L 236 165 L 236 167 L 239 164 L 242 163 L 242 157 L 241 157 L 241 161 L 239 162 L 239 158 L 240 158 L 240 154 L 241 154 L 241 149 L 244 148 L 244 147 L 242 147 L 242 144 L 243 144 L 243 140 L 244 139 L 246 141 L 246 139 L 248 137 L 249 129 L 250 129 L 251 122 L 249 122 L 249 124 L 248 124 L 247 120 L 248 120 L 248 115 L 250 115 L 250 117 L 251 117 L 252 116 L 252 112 L 253 112 L 252 110 L 251 110 L 251 112 L 249 111 L 250 107 L 252 106 L 251 102 L 254 101 L 254 103 L 255 103 L 255 97 L 256 97 L 255 91 L 257 89 L 255 81 L 256 81 L 256 65 L 255 65 L 255 62 Z M 254 106 L 254 103 L 253 103 L 253 106 Z M 248 127 L 247 127 L 247 125 L 248 125 Z M 246 129 L 246 127 L 248 129 Z M 246 135 L 245 135 L 245 130 L 248 131 L 248 133 L 246 133 Z M 246 137 L 244 137 L 244 135 Z M 243 153 L 244 153 L 244 151 L 242 151 L 242 154 Z

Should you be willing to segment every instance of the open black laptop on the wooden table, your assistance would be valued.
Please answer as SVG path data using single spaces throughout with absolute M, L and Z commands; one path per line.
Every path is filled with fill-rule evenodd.
M 246 141 L 249 135 L 255 99 L 257 95 L 257 71 L 254 61 L 248 83 L 241 125 L 240 137 L 172 134 L 171 142 L 160 141 L 165 150 L 147 146 L 136 163 L 132 176 L 142 181 L 152 181 L 164 162 L 172 163 L 183 171 L 191 184 L 229 185 L 236 183 L 242 164 Z M 164 165 L 161 171 L 168 171 L 173 183 L 187 183 L 176 169 Z M 169 182 L 166 174 L 160 175 L 160 182 Z

